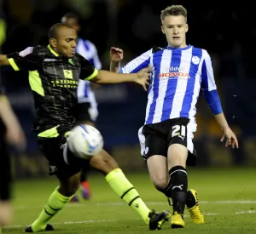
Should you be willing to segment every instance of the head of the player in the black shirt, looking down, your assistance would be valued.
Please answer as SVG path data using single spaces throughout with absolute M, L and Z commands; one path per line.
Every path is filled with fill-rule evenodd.
M 66 58 L 72 58 L 77 46 L 76 39 L 77 33 L 72 28 L 60 28 L 56 39 L 56 52 Z

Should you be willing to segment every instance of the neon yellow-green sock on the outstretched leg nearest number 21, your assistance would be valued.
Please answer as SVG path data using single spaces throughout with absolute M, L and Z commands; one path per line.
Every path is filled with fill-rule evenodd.
M 137 190 L 131 185 L 129 180 L 126 179 L 125 174 L 120 168 L 114 169 L 107 174 L 106 180 L 108 184 L 113 189 L 113 191 L 121 197 L 129 206 L 134 208 L 138 214 L 143 217 L 143 220 L 148 225 L 149 218 L 148 214 L 150 209 L 143 202 L 142 198 L 139 196 Z

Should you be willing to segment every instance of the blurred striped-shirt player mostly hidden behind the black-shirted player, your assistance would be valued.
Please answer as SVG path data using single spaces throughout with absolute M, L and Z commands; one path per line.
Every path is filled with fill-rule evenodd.
M 67 13 L 61 18 L 61 23 L 67 24 L 73 27 L 77 33 L 80 31 L 79 17 L 73 13 Z M 86 60 L 89 60 L 91 65 L 97 70 L 102 69 L 102 63 L 99 60 L 96 46 L 89 40 L 84 40 L 79 37 L 77 39 L 76 51 L 81 54 Z M 93 84 L 93 83 L 92 83 Z M 79 116 L 77 120 L 79 123 L 89 124 L 96 127 L 96 118 L 98 117 L 98 109 L 96 97 L 93 91 L 93 86 L 90 81 L 79 80 L 78 99 L 79 99 Z M 84 164 L 84 168 L 81 171 L 81 185 L 82 185 L 82 197 L 84 199 L 90 199 L 90 185 L 88 181 L 88 174 L 90 171 L 89 164 Z M 79 202 L 79 197 L 74 196 L 72 202 Z

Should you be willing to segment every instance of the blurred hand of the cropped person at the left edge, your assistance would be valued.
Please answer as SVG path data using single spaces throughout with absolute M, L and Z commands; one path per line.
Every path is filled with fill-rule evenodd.
M 9 144 L 15 146 L 18 150 L 24 151 L 26 149 L 26 137 L 20 127 L 7 128 L 6 138 Z

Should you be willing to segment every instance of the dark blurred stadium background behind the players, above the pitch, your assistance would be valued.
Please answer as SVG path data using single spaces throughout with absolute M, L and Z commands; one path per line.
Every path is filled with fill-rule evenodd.
M 195 134 L 199 166 L 255 166 L 256 51 L 252 45 L 256 26 L 253 9 L 246 5 L 232 3 L 230 8 L 220 1 L 207 1 L 199 8 L 194 1 L 3 0 L 8 27 L 2 50 L 8 54 L 27 46 L 47 44 L 49 27 L 59 22 L 63 14 L 73 11 L 81 18 L 79 36 L 96 44 L 103 69 L 108 70 L 111 46 L 124 49 L 125 61 L 153 45 L 166 46 L 166 38 L 160 32 L 160 10 L 176 3 L 188 9 L 187 43 L 207 49 L 212 56 L 224 112 L 240 144 L 239 150 L 230 150 L 219 142 L 222 132 L 201 98 Z M 47 162 L 39 154 L 36 135 L 31 132 L 34 108 L 27 73 L 4 67 L 2 83 L 28 142 L 25 154 L 11 149 L 15 178 L 47 176 Z M 100 111 L 97 125 L 105 138 L 105 148 L 126 171 L 146 170 L 140 157 L 137 129 L 144 121 L 147 94 L 135 84 L 105 85 L 96 90 L 96 98 Z

